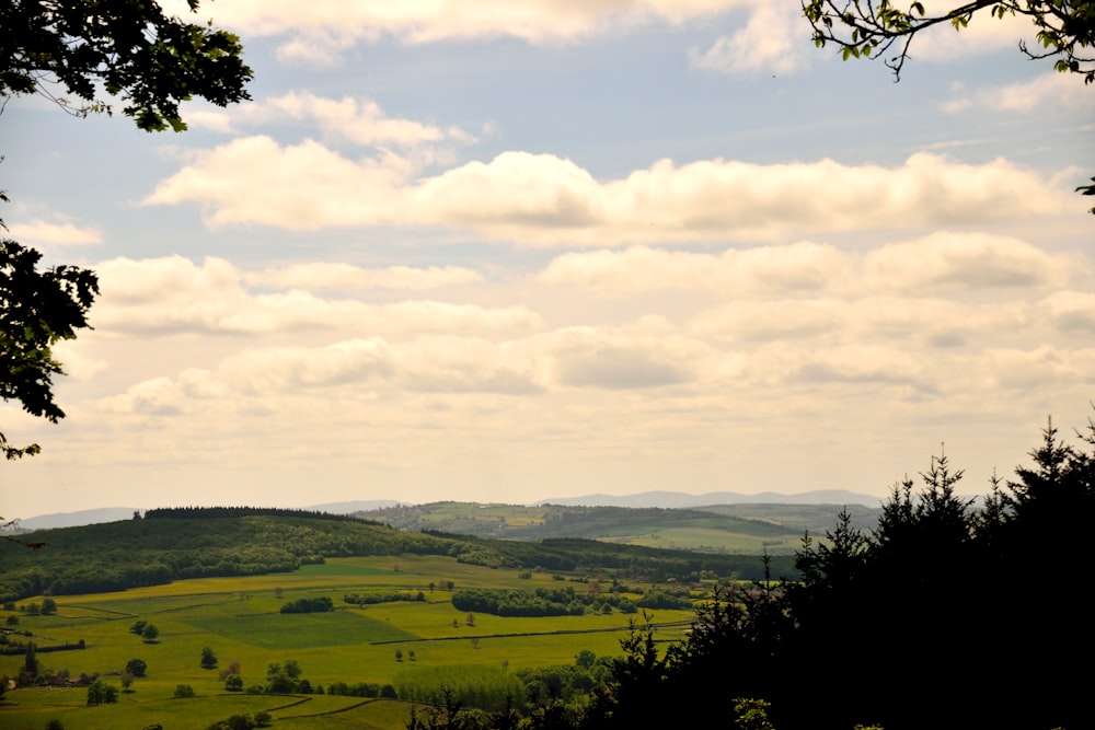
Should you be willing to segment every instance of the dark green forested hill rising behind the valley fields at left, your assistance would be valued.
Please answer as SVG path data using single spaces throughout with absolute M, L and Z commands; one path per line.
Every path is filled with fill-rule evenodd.
M 314 512 L 187 508 L 145 519 L 39 530 L 0 541 L 0 601 L 124 590 L 173 580 L 295 570 L 328 557 L 448 555 L 464 563 L 548 570 L 610 570 L 688 579 L 700 571 L 760 578 L 757 556 L 710 555 L 585 540 L 507 542 L 423 533 Z M 793 572 L 789 557 L 773 571 Z

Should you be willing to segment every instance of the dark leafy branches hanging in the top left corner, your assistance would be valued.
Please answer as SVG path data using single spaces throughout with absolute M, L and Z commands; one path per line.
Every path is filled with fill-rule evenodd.
M 197 12 L 198 0 L 187 5 Z M 250 99 L 239 38 L 169 16 L 152 0 L 4 2 L 0 26 L 0 96 L 39 93 L 79 116 L 110 114 L 101 86 L 147 131 L 185 129 L 178 104 L 194 96 L 218 106 Z

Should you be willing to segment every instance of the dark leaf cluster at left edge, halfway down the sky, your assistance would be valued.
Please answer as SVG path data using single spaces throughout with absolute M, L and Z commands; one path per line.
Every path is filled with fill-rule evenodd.
M 99 279 L 76 266 L 38 270 L 41 260 L 37 251 L 0 239 L 0 398 L 18 401 L 23 410 L 56 424 L 65 412 L 54 402 L 53 376 L 65 371 L 51 348 L 90 326 L 88 310 Z M 0 451 L 12 460 L 41 449 L 12 447 L 0 433 Z

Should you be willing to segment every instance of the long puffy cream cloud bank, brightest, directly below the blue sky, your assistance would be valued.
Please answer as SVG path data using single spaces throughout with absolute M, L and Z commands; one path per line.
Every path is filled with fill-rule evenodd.
M 196 153 L 143 202 L 199 202 L 212 227 L 441 227 L 520 246 L 771 241 L 1029 219 L 1079 205 L 1006 160 L 926 153 L 892 167 L 661 160 L 603 182 L 570 160 L 528 152 L 419 179 L 414 170 L 394 154 L 353 161 L 312 140 L 249 137 Z

